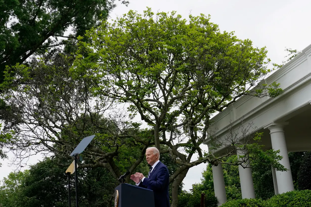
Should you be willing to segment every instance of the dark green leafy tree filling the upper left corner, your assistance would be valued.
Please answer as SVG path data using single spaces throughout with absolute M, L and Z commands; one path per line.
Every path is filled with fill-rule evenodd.
M 31 55 L 70 45 L 107 19 L 115 0 L 1 0 L 0 82 L 5 67 Z M 120 0 L 119 0 L 120 1 Z M 128 1 L 122 1 L 128 4 Z M 70 35 L 64 35 L 65 31 Z

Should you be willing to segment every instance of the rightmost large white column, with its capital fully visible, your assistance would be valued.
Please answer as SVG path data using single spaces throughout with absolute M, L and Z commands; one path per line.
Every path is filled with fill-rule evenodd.
M 279 193 L 285 193 L 288 191 L 294 191 L 293 178 L 290 170 L 290 161 L 288 158 L 288 152 L 285 142 L 285 135 L 283 126 L 288 123 L 272 123 L 268 125 L 271 135 L 272 148 L 274 150 L 280 150 L 279 155 L 283 158 L 280 160 L 280 164 L 287 168 L 287 171 L 276 171 L 276 181 Z

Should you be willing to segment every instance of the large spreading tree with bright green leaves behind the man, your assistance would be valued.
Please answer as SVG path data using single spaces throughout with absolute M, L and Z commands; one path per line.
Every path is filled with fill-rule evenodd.
M 257 86 L 270 72 L 267 50 L 221 32 L 203 14 L 187 21 L 175 12 L 130 11 L 78 39 L 75 72 L 94 77 L 95 94 L 129 104 L 130 116 L 138 115 L 153 130 L 155 146 L 167 145 L 178 158 L 181 167 L 170 178 L 172 206 L 178 200 L 174 188 L 189 167 L 220 161 L 200 147 L 211 136 L 211 114 L 243 95 L 281 92 L 276 83 Z M 233 146 L 224 156 L 236 150 L 238 139 L 230 141 L 222 143 Z M 194 153 L 198 159 L 191 162 Z

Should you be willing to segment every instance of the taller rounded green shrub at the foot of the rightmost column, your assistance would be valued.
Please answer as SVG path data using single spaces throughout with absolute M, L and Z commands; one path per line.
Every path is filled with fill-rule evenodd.
M 310 207 L 311 191 L 290 191 L 273 196 L 267 200 L 270 207 Z

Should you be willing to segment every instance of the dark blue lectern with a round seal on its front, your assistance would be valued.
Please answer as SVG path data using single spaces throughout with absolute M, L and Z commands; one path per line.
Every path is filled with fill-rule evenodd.
M 114 189 L 115 207 L 154 207 L 153 191 L 121 183 Z

